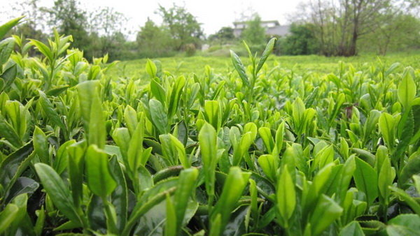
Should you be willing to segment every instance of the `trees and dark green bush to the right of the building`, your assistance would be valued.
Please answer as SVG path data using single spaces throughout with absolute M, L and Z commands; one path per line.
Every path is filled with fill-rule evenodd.
M 311 0 L 293 16 L 288 54 L 354 56 L 420 49 L 419 0 Z

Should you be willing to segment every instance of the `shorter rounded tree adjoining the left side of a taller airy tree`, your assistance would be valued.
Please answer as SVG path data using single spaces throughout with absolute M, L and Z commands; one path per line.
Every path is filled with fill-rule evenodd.
M 174 50 L 173 40 L 169 29 L 158 27 L 148 19 L 137 34 L 137 45 L 143 57 L 168 56 Z

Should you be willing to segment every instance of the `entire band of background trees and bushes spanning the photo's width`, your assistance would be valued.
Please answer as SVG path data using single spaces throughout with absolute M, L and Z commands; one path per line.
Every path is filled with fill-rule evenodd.
M 279 38 L 274 47 L 279 55 L 349 57 L 420 50 L 420 3 L 416 0 L 311 0 L 291 15 L 288 35 L 266 35 L 261 24 L 264 14 L 255 14 L 241 19 L 246 28 L 237 37 L 234 28 L 228 27 L 232 22 L 205 36 L 195 15 L 176 4 L 159 6 L 155 11 L 162 17 L 162 24 L 148 19 L 138 31 L 129 32 L 125 29 L 127 18 L 113 8 L 89 12 L 83 10 L 80 0 L 55 0 L 50 8 L 41 8 L 38 3 L 22 1 L 10 11 L 13 16 L 26 15 L 25 23 L 12 34 L 46 43 L 56 27 L 59 34 L 73 36 L 73 47 L 83 50 L 90 60 L 106 53 L 110 61 L 195 54 L 228 56 L 230 48 L 246 56 L 242 40 L 251 50 L 262 52 L 273 36 Z M 136 34 L 136 40 L 127 40 L 128 34 Z

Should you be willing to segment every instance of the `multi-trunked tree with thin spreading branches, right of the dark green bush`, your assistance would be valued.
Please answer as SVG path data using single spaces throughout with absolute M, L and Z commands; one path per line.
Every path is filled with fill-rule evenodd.
M 321 54 L 353 56 L 363 36 L 391 24 L 397 13 L 407 11 L 416 0 L 336 0 L 309 1 L 305 20 L 314 24 Z M 391 14 L 390 14 L 391 13 Z M 398 14 L 397 14 L 398 15 Z

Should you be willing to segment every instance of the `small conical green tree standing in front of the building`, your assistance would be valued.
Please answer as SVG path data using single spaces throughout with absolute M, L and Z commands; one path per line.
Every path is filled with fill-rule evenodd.
M 250 45 L 265 44 L 265 29 L 261 26 L 261 18 L 258 14 L 254 15 L 253 20 L 247 22 L 241 38 Z

